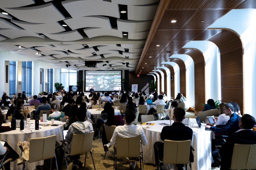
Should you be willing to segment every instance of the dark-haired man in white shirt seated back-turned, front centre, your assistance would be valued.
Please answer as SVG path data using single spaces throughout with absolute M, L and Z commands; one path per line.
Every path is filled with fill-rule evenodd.
M 136 114 L 132 110 L 126 110 L 125 111 L 125 124 L 124 126 L 117 126 L 115 128 L 114 134 L 110 140 L 110 143 L 104 145 L 104 151 L 106 151 L 108 148 L 116 144 L 116 136 L 120 137 L 136 137 L 140 135 L 140 143 L 143 145 L 147 145 L 148 141 L 144 134 L 144 131 L 140 125 L 133 125 L 132 122 L 135 120 Z M 129 158 L 122 158 L 124 163 L 127 163 L 130 168 L 135 169 L 136 167 L 136 161 L 130 162 Z

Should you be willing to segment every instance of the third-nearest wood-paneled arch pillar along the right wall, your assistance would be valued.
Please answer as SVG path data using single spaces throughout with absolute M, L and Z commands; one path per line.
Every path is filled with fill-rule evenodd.
M 170 58 L 173 59 L 172 62 L 178 64 L 180 67 L 180 91 L 178 89 L 178 93 L 183 94 L 186 97 L 186 65 L 184 61 L 179 58 Z

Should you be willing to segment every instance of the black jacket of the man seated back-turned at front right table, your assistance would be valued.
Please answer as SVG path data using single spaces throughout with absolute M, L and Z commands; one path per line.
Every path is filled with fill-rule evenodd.
M 172 141 L 192 140 L 192 136 L 193 130 L 180 122 L 174 122 L 172 126 L 165 126 L 161 132 L 161 139 L 163 141 L 165 139 Z M 192 150 L 190 150 L 189 161 L 194 161 Z

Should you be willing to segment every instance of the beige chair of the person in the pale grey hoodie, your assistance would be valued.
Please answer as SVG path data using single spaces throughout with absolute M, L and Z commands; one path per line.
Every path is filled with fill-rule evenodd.
M 68 155 L 73 156 L 73 155 L 78 155 L 78 154 L 84 153 L 85 154 L 84 166 L 85 166 L 87 152 L 90 152 L 91 156 L 92 156 L 93 134 L 94 134 L 94 131 L 87 133 L 87 134 L 73 134 L 71 150 L 70 150 L 69 154 L 67 153 L 66 148 L 65 148 L 67 146 L 67 144 L 64 141 L 60 141 L 63 145 L 63 149 L 65 152 L 67 170 L 68 170 L 68 161 L 67 161 Z M 96 170 L 93 156 L 92 156 L 92 162 L 93 162 L 94 170 Z

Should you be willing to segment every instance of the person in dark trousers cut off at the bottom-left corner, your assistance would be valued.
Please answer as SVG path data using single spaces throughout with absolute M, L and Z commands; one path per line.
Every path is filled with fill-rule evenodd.
M 5 141 L 3 141 L 3 142 L 5 142 Z M 7 142 L 4 143 L 4 146 L 2 145 L 2 143 L 0 143 L 0 159 L 4 158 L 4 154 L 7 151 L 9 151 L 9 153 L 6 155 L 5 160 L 7 160 L 9 158 L 12 158 L 12 162 L 16 159 L 17 159 L 17 161 L 19 160 L 18 159 L 19 158 L 18 153 L 16 151 L 14 151 L 12 149 L 12 147 Z M 18 162 L 18 165 L 21 165 L 20 164 L 21 162 L 23 163 L 23 161 L 21 160 L 21 161 Z M 10 170 L 10 161 L 7 162 L 6 164 L 4 164 L 4 169 L 5 170 Z

